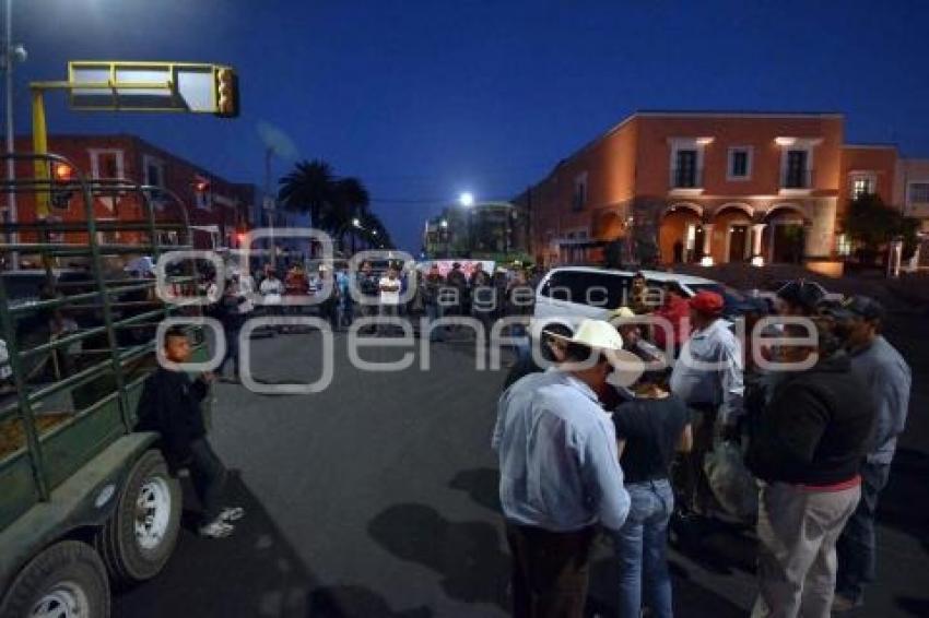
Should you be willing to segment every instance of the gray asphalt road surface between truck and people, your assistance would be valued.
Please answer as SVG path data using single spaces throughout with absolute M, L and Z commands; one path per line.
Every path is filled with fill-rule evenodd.
M 893 338 L 918 361 L 918 392 L 882 504 L 881 579 L 857 616 L 929 615 L 926 322 L 895 320 Z M 507 615 L 509 558 L 489 443 L 503 372 L 478 371 L 463 343 L 434 346 L 428 370 L 416 357 L 400 372 L 361 371 L 345 342 L 337 335 L 332 384 L 321 393 L 215 389 L 212 440 L 236 471 L 230 502 L 248 514 L 226 539 L 185 530 L 158 578 L 117 595 L 115 616 Z M 319 376 L 317 336 L 259 340 L 255 348 L 263 381 Z M 363 357 L 402 354 L 375 348 Z M 192 497 L 187 508 L 196 510 Z M 603 542 L 596 554 L 590 615 L 613 613 L 610 551 Z M 752 563 L 751 537 L 730 528 L 708 534 L 697 555 L 674 551 L 677 614 L 744 616 Z

